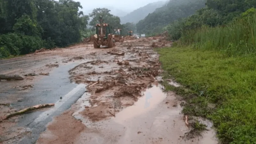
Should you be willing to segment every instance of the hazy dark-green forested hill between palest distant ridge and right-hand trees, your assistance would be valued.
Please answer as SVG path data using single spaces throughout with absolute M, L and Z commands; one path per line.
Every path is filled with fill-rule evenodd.
M 171 0 L 140 20 L 136 24 L 137 31 L 146 34 L 158 33 L 170 22 L 188 17 L 205 7 L 205 2 L 206 0 Z

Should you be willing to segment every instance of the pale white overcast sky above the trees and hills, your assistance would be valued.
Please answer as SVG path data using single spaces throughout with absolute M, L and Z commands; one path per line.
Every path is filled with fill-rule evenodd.
M 83 11 L 91 10 L 97 7 L 110 6 L 121 9 L 126 12 L 131 12 L 139 7 L 149 3 L 161 0 L 75 0 L 83 6 Z

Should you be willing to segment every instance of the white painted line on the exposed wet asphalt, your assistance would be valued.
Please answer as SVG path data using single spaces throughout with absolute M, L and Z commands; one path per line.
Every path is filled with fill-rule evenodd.
M 58 110 L 66 101 L 68 101 L 76 92 L 80 91 L 81 89 L 85 88 L 84 84 L 78 84 L 72 91 L 68 92 L 64 97 L 62 97 L 62 100 L 58 100 L 53 108 L 50 108 L 49 110 L 43 112 L 40 114 L 35 120 L 35 123 L 41 122 L 45 120 L 47 117 L 52 115 L 55 111 Z

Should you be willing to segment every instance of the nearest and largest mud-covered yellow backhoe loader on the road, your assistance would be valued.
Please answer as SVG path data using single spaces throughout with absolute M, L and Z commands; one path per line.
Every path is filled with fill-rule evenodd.
M 96 34 L 92 36 L 93 47 L 100 48 L 100 45 L 112 48 L 115 44 L 113 42 L 112 34 L 108 23 L 104 23 L 102 16 L 100 16 L 100 23 L 96 24 Z

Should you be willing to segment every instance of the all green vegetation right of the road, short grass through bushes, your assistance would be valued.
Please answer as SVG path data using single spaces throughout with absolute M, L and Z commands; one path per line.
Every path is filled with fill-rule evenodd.
M 186 115 L 211 119 L 222 143 L 255 143 L 256 3 L 206 5 L 169 25 L 170 39 L 178 41 L 158 50 L 160 61 L 164 78 L 183 86 L 166 89 L 184 97 Z

